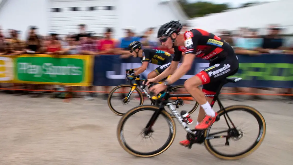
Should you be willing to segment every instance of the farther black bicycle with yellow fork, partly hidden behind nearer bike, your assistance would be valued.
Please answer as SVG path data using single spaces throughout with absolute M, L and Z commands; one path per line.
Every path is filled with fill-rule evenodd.
M 127 79 L 127 76 L 129 74 L 130 73 L 127 73 L 127 70 L 126 70 L 125 79 L 127 80 L 127 83 L 122 84 L 122 85 L 118 85 L 117 87 L 113 88 L 113 90 L 111 90 L 111 92 L 109 93 L 109 96 L 108 96 L 108 106 L 109 106 L 110 110 L 113 111 L 115 114 L 121 115 L 121 116 L 125 114 L 125 113 L 121 112 L 122 109 L 123 109 L 121 107 L 121 105 L 119 105 L 119 107 L 117 107 L 117 108 L 114 108 L 113 105 L 116 105 L 119 102 L 122 103 L 122 105 L 128 105 L 128 104 L 130 104 L 130 102 L 133 102 L 134 104 L 131 105 L 132 107 L 135 107 L 135 106 L 138 106 L 138 105 L 143 105 L 144 96 L 142 94 L 142 91 L 144 92 L 144 94 L 151 101 L 151 105 L 158 105 L 158 101 L 157 101 L 158 97 L 157 96 L 151 96 L 151 93 L 146 90 L 146 86 L 142 84 L 142 81 L 145 81 L 146 79 L 140 79 L 139 75 L 137 75 L 135 77 L 135 79 L 133 80 L 133 81 L 135 81 L 135 83 L 132 83 L 131 80 Z M 120 99 L 118 97 L 118 102 L 117 102 L 117 99 L 114 99 L 114 98 L 117 95 L 119 95 L 121 93 L 124 93 L 123 91 L 119 92 L 119 90 L 124 89 L 124 91 L 127 91 L 127 90 L 125 90 L 125 88 L 130 88 L 129 92 L 127 93 L 126 97 L 124 97 L 124 98 L 120 97 L 121 101 L 120 101 Z M 169 92 L 171 92 L 173 94 L 187 93 L 187 91 L 185 90 L 184 85 L 176 85 L 176 86 L 172 87 Z M 116 93 L 116 95 L 115 95 L 115 93 Z M 130 98 L 130 96 L 132 94 L 137 94 L 137 97 L 136 97 L 137 100 L 134 100 L 134 99 Z M 192 98 L 192 96 L 190 94 L 188 94 L 188 96 L 186 96 L 186 97 L 172 98 L 172 100 L 174 100 L 174 101 L 172 101 L 172 104 L 176 105 L 176 107 L 179 108 L 179 106 L 183 106 L 186 102 L 192 102 L 192 104 L 194 104 L 194 107 L 189 111 L 189 114 L 191 114 L 196 110 L 196 108 L 198 107 L 199 104 L 196 101 L 191 100 L 190 98 Z M 186 101 L 185 99 L 190 99 L 191 101 Z M 173 114 L 170 114 L 170 115 L 171 115 L 171 117 L 175 117 Z

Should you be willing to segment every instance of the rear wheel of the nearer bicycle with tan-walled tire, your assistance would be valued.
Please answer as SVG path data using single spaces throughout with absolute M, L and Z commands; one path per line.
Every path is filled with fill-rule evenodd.
M 258 129 L 257 132 L 256 132 L 256 136 L 251 138 L 251 136 L 250 136 L 250 134 L 248 134 L 248 132 L 245 132 L 239 126 L 237 127 L 236 124 L 234 124 L 233 119 L 231 119 L 231 118 L 233 118 L 233 114 L 231 114 L 231 112 L 240 112 L 240 113 L 242 113 L 241 115 L 235 115 L 234 118 L 235 117 L 241 117 L 243 120 L 248 121 L 249 125 L 252 125 L 251 123 L 253 121 L 258 123 L 258 127 L 256 127 L 256 125 L 253 125 L 254 129 Z M 230 115 L 227 115 L 228 113 L 230 113 Z M 254 118 L 244 117 L 245 114 L 243 114 L 243 113 L 246 113 L 247 115 L 250 114 Z M 232 106 L 226 107 L 225 111 L 224 110 L 218 111 L 218 115 L 219 116 L 224 115 L 224 118 L 222 120 L 227 119 L 226 121 L 224 120 L 225 124 L 230 123 L 230 126 L 232 126 L 232 125 L 235 126 L 235 127 L 232 126 L 227 131 L 219 132 L 219 133 L 224 133 L 225 132 L 226 134 L 228 134 L 226 136 L 217 136 L 217 137 L 220 137 L 220 139 L 226 140 L 225 146 L 227 146 L 227 145 L 230 146 L 230 142 L 228 141 L 230 139 L 234 140 L 235 143 L 236 142 L 239 143 L 239 141 L 243 137 L 243 134 L 245 134 L 246 137 L 250 138 L 249 140 L 244 141 L 244 142 L 246 142 L 246 143 L 252 142 L 252 144 L 247 149 L 245 149 L 244 151 L 240 151 L 239 153 L 235 153 L 235 151 L 232 151 L 232 149 L 228 150 L 229 152 L 231 152 L 231 154 L 221 153 L 216 149 L 216 147 L 224 147 L 224 146 L 212 146 L 212 144 L 211 144 L 211 140 L 214 140 L 214 137 L 209 137 L 209 136 L 213 136 L 213 135 L 215 135 L 217 133 L 210 133 L 211 127 L 212 127 L 212 126 L 210 126 L 207 130 L 205 130 L 206 140 L 204 141 L 204 144 L 205 144 L 206 149 L 212 155 L 216 156 L 219 159 L 235 160 L 235 159 L 244 158 L 244 157 L 248 156 L 249 154 L 251 154 L 256 149 L 258 149 L 260 144 L 263 142 L 263 139 L 265 137 L 265 132 L 266 132 L 265 119 L 260 114 L 260 112 L 258 112 L 253 107 L 249 107 L 249 106 L 245 106 L 245 105 L 232 105 Z M 221 121 L 221 119 L 219 121 Z M 238 120 L 236 120 L 236 122 L 237 121 Z M 217 122 L 215 122 L 215 123 L 217 123 Z M 213 123 L 212 125 L 214 125 L 215 123 Z M 230 134 L 230 137 L 229 137 L 229 134 Z M 231 142 L 233 142 L 233 141 L 231 141 Z M 238 149 L 238 147 L 236 147 L 236 149 Z

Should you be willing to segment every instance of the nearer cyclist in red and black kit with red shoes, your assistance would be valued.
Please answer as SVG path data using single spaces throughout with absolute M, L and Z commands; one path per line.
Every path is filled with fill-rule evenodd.
M 161 77 L 172 74 L 163 84 L 154 85 L 150 89 L 158 94 L 165 90 L 167 85 L 175 83 L 185 75 L 191 69 L 195 57 L 209 60 L 208 68 L 184 83 L 186 90 L 200 104 L 195 129 L 203 130 L 215 122 L 217 112 L 210 105 L 212 96 L 216 94 L 222 79 L 234 75 L 238 71 L 238 57 L 226 41 L 212 33 L 202 29 L 192 29 L 180 34 L 181 29 L 182 25 L 179 21 L 170 21 L 160 27 L 157 37 L 162 45 L 174 48 L 175 55 L 171 65 L 156 78 L 149 79 L 148 82 L 157 82 Z M 182 64 L 176 69 L 182 56 Z M 202 91 L 198 88 L 200 85 L 202 85 Z M 205 95 L 209 97 L 205 97 Z M 188 146 L 190 141 L 183 140 L 180 144 Z

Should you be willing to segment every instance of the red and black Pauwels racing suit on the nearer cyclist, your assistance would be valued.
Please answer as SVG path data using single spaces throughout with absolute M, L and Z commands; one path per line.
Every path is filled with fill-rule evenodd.
M 217 92 L 222 79 L 234 75 L 239 68 L 233 48 L 222 38 L 202 29 L 184 33 L 184 46 L 174 47 L 173 61 L 180 61 L 182 52 L 209 60 L 209 67 L 196 75 L 202 80 L 202 91 L 209 96 Z

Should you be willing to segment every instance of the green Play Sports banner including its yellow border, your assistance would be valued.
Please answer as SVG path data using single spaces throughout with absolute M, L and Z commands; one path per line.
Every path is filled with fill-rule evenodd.
M 15 83 L 88 86 L 90 55 L 19 55 L 14 57 Z

